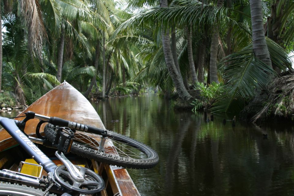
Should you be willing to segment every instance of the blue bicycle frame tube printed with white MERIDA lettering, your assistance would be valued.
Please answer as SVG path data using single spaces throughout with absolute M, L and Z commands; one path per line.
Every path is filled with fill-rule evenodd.
M 25 151 L 49 173 L 57 167 L 26 135 L 19 130 L 14 120 L 0 117 L 0 125 L 25 149 Z

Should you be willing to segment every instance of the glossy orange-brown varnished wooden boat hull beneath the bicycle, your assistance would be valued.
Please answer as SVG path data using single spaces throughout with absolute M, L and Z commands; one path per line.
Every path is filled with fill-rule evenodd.
M 33 111 L 37 114 L 45 116 L 56 116 L 66 120 L 83 123 L 95 127 L 105 128 L 99 115 L 89 103 L 89 101 L 74 87 L 66 83 L 60 84 L 27 109 L 25 109 L 19 116 L 24 116 L 26 111 Z M 18 118 L 17 120 L 22 120 Z M 36 125 L 38 120 L 29 120 L 25 127 L 25 132 L 28 135 L 34 135 L 36 130 Z M 43 130 L 41 127 L 40 131 Z M 5 151 L 13 146 L 17 145 L 15 140 L 4 130 L 0 130 L 0 152 Z M 0 160 L 1 162 L 1 160 Z M 126 169 L 113 167 L 103 163 L 96 163 L 92 161 L 94 170 L 99 173 L 106 173 L 107 176 L 104 177 L 106 183 L 106 188 L 111 187 L 112 193 L 120 195 L 140 195 L 136 186 L 134 185 L 130 175 Z M 95 167 L 95 164 L 99 167 Z M 1 163 L 0 163 L 1 165 Z M 109 191 L 102 191 L 102 195 L 109 195 Z

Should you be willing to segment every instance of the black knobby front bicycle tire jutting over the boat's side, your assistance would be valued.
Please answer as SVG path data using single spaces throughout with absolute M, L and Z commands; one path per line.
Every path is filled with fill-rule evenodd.
M 50 142 L 54 142 L 56 131 L 52 124 L 48 123 L 44 127 L 44 133 L 47 136 L 47 139 L 49 139 Z M 133 169 L 148 169 L 154 167 L 158 161 L 159 157 L 156 151 L 154 151 L 151 147 L 138 142 L 132 138 L 129 138 L 127 136 L 121 135 L 119 133 L 115 133 L 113 131 L 107 131 L 107 138 L 111 139 L 111 142 L 113 143 L 119 143 L 117 147 L 115 148 L 115 152 L 113 152 L 113 148 L 111 148 L 110 151 L 101 151 L 98 149 L 98 147 L 94 147 L 92 141 L 87 144 L 87 142 L 81 142 L 80 139 L 80 131 L 76 131 L 74 142 L 71 146 L 70 151 L 74 154 L 77 154 L 79 156 L 88 158 L 88 159 L 94 159 L 96 161 L 108 163 L 111 165 L 116 165 L 120 167 L 127 167 L 127 168 L 133 168 Z M 87 134 L 85 132 L 82 132 L 82 134 Z M 78 135 L 79 134 L 79 135 Z M 96 134 L 90 134 L 91 136 L 87 136 L 89 139 L 93 137 L 99 137 L 100 135 Z M 123 147 L 121 147 L 123 146 Z M 122 152 L 121 151 L 127 151 Z M 136 152 L 133 152 L 136 151 Z M 138 152 L 137 152 L 138 151 Z M 134 153 L 134 155 L 133 155 Z M 124 156 L 126 155 L 126 156 Z

